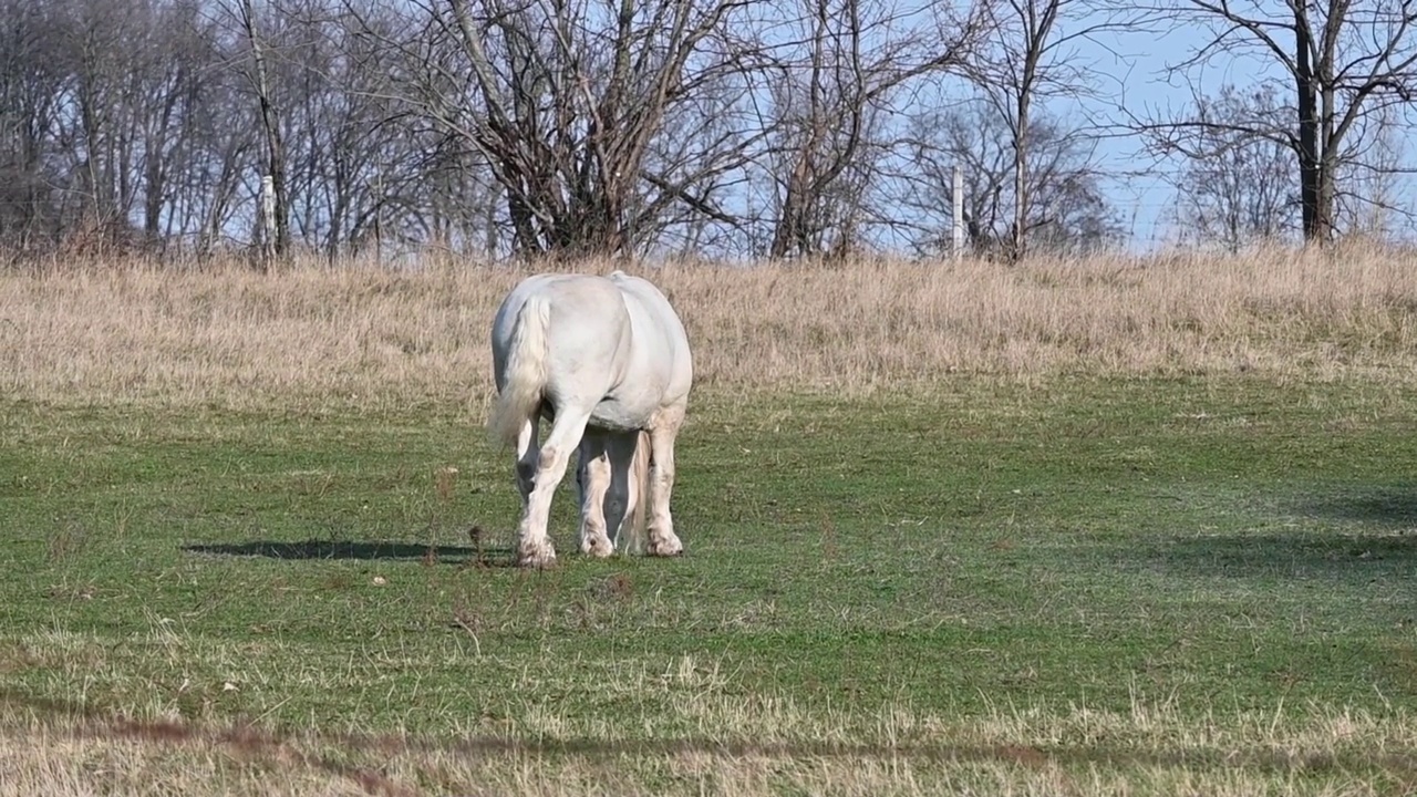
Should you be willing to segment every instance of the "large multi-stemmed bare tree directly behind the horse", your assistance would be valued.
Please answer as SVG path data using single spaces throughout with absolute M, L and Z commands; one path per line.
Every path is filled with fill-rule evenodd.
M 490 167 L 517 251 L 628 254 L 667 208 L 706 204 L 683 174 L 648 172 L 649 153 L 677 106 L 738 68 L 718 43 L 744 4 L 422 0 L 421 33 L 398 43 L 418 64 L 404 94 Z

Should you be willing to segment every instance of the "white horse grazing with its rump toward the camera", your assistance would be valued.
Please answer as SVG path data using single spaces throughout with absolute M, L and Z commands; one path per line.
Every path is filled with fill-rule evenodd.
M 487 427 L 517 451 L 520 564 L 555 562 L 546 526 L 572 450 L 584 553 L 609 556 L 606 528 L 619 540 L 626 525 L 638 550 L 646 502 L 648 552 L 683 550 L 669 496 L 693 360 L 679 315 L 655 285 L 621 271 L 523 279 L 492 322 L 492 369 L 497 398 Z M 551 431 L 538 448 L 540 418 Z

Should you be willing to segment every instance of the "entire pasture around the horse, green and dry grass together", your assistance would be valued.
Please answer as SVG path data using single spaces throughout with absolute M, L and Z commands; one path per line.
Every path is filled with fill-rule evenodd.
M 686 554 L 580 556 L 568 479 L 544 572 L 480 427 L 510 277 L 0 275 L 0 794 L 1413 791 L 1411 264 L 1090 343 L 1037 319 L 1155 281 L 1074 265 L 835 367 L 862 318 L 768 346 L 666 274 Z

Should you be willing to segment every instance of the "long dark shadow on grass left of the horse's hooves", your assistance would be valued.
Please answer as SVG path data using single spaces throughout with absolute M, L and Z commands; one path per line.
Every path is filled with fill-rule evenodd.
M 188 553 L 210 556 L 259 556 L 282 560 L 444 562 L 497 567 L 512 560 L 512 550 L 493 546 L 428 545 L 395 540 L 307 539 L 300 542 L 251 540 L 186 545 Z

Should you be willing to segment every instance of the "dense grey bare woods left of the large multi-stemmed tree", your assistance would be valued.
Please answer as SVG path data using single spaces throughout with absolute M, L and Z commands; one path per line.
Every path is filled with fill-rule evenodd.
M 339 257 L 380 234 L 452 243 L 485 224 L 486 180 L 458 174 L 446 130 L 394 92 L 415 67 L 390 47 L 408 34 L 402 14 L 323 0 L 259 11 L 0 0 L 0 238 L 11 248 L 207 254 L 275 237 L 258 223 L 272 166 L 281 248 Z

